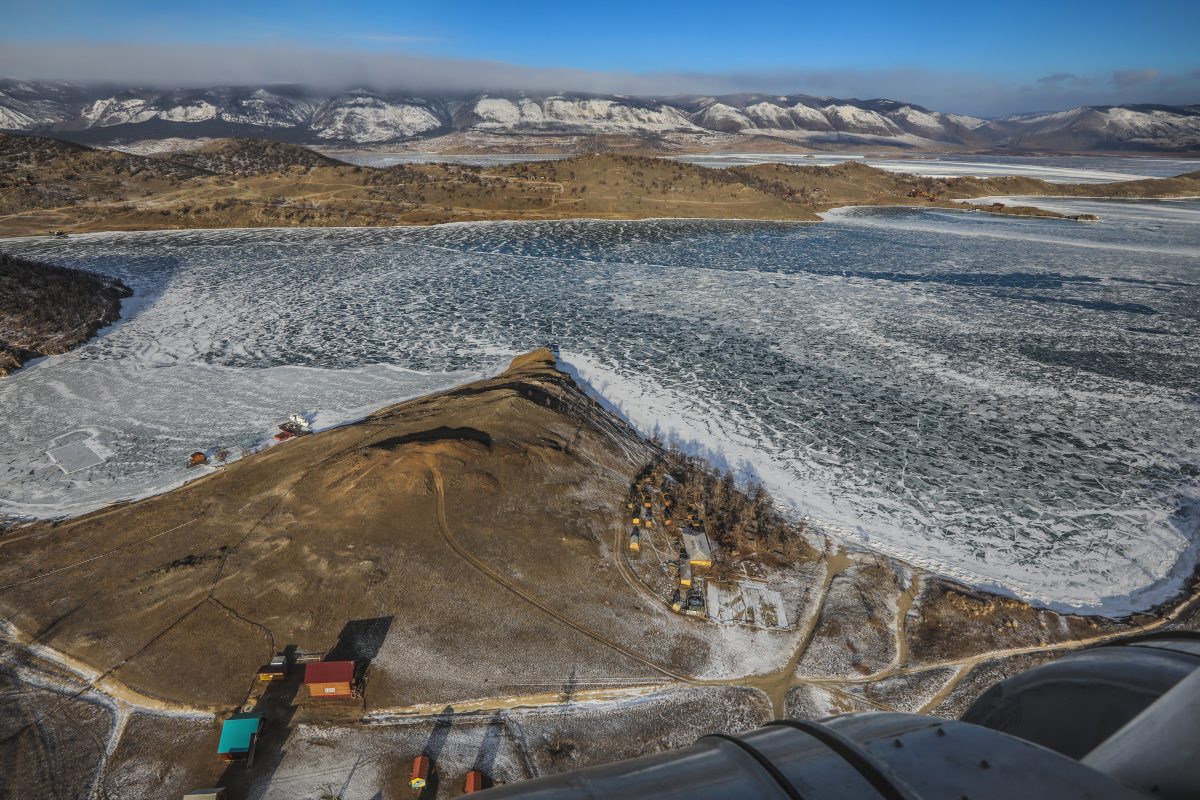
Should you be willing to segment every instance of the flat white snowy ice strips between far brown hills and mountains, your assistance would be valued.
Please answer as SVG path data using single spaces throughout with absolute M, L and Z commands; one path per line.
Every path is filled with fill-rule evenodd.
M 552 161 L 566 156 L 545 154 L 479 154 L 442 155 L 431 152 L 359 152 L 332 154 L 335 158 L 364 167 L 391 167 L 395 164 L 474 164 L 499 167 L 528 161 Z M 997 178 L 1024 175 L 1039 178 L 1052 184 L 1110 184 L 1139 178 L 1171 178 L 1200 169 L 1200 158 L 1154 158 L 1132 156 L 1000 156 L 937 154 L 912 158 L 875 158 L 857 154 L 815 152 L 746 152 L 676 156 L 701 167 L 745 167 L 746 164 L 778 163 L 802 167 L 828 167 L 847 161 L 857 161 L 880 169 L 907 175 L 929 178 Z

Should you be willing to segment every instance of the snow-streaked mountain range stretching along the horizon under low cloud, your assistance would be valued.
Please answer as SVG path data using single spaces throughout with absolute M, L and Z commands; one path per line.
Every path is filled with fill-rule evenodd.
M 769 137 L 814 148 L 1200 150 L 1200 106 L 1102 106 L 998 120 L 892 100 L 806 95 L 410 96 L 296 86 L 151 90 L 0 79 L 0 130 L 91 144 L 256 136 L 372 148 L 444 134 Z

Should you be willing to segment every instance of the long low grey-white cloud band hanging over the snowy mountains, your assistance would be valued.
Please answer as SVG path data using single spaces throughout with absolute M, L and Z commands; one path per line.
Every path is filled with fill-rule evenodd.
M 383 35 L 376 41 L 403 44 L 412 40 Z M 643 74 L 528 67 L 395 49 L 322 50 L 300 46 L 254 48 L 55 41 L 0 44 L 2 76 L 136 86 L 300 84 L 323 90 L 368 86 L 413 92 L 810 94 L 889 97 L 942 112 L 982 116 L 1079 104 L 1182 104 L 1200 101 L 1200 71 L 1160 74 L 1153 68 L 1122 70 L 1105 76 L 1060 72 L 1021 83 L 995 76 L 919 67 Z

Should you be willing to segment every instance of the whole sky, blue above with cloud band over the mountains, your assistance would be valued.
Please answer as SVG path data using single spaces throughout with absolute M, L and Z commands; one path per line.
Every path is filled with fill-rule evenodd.
M 0 76 L 811 94 L 995 116 L 1200 102 L 1200 1 L 0 0 Z

